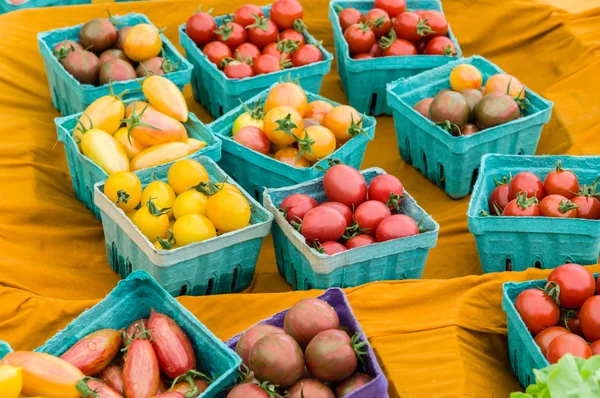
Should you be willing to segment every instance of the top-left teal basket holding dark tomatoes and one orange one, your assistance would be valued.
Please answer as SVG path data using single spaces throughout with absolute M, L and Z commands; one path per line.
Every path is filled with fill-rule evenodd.
M 2 1 L 2 0 L 0 0 Z M 152 24 L 148 17 L 142 14 L 130 13 L 123 16 L 114 16 L 115 20 L 121 26 L 134 26 L 140 23 Z M 67 72 L 67 70 L 58 62 L 58 59 L 52 53 L 52 48 L 61 41 L 78 41 L 79 31 L 83 24 L 71 26 L 68 28 L 55 29 L 48 32 L 38 33 L 38 46 L 40 53 L 44 58 L 46 74 L 48 75 L 48 85 L 52 95 L 52 104 L 63 115 L 83 112 L 94 100 L 108 95 L 108 84 L 103 86 L 92 86 L 91 84 L 81 84 Z M 164 75 L 167 79 L 183 90 L 183 86 L 190 82 L 192 77 L 192 65 L 177 51 L 175 46 L 161 34 L 164 56 L 172 63 L 177 64 L 177 70 Z M 140 99 L 143 97 L 140 89 L 141 79 L 127 80 L 113 83 L 115 92 L 130 90 L 124 99 Z

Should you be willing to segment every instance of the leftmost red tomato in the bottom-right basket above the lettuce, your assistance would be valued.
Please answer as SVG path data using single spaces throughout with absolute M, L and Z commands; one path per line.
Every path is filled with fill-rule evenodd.
M 515 299 L 515 308 L 532 335 L 555 326 L 560 317 L 558 305 L 540 289 L 527 289 Z

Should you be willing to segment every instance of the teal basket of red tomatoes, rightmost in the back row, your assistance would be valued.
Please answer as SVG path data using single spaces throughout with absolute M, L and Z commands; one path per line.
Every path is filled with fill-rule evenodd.
M 361 113 L 369 115 L 391 115 L 392 109 L 386 100 L 386 84 L 402 77 L 417 75 L 462 57 L 462 51 L 452 29 L 448 37 L 456 47 L 456 56 L 411 55 L 403 57 L 381 57 L 355 60 L 350 57 L 348 42 L 340 25 L 337 8 L 353 7 L 365 14 L 373 8 L 372 0 L 333 0 L 329 3 L 329 20 L 333 27 L 335 56 L 338 72 L 342 79 L 348 102 Z M 443 12 L 438 0 L 407 0 L 407 9 L 437 10 Z

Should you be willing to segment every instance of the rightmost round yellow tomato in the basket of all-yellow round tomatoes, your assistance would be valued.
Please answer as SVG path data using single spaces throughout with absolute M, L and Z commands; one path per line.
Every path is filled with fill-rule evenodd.
M 250 222 L 250 204 L 241 193 L 222 189 L 208 198 L 208 218 L 219 232 L 244 228 Z

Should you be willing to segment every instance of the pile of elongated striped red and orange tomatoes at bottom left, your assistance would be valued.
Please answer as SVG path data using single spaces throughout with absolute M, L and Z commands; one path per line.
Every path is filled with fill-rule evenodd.
M 20 391 L 63 398 L 197 397 L 211 380 L 196 370 L 189 337 L 168 315 L 154 310 L 149 315 L 125 331 L 90 333 L 60 357 L 8 353 L 0 366 L 14 367 L 16 377 L 13 389 L 0 391 L 2 397 L 21 397 Z

